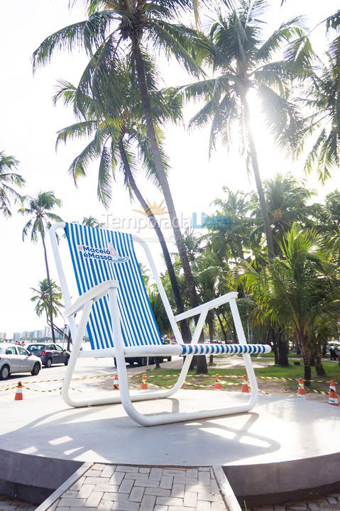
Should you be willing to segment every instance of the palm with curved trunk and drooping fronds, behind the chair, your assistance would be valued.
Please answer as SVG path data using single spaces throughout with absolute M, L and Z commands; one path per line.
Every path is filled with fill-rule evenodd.
M 93 136 L 84 150 L 72 161 L 69 172 L 77 182 L 79 177 L 86 175 L 89 163 L 99 160 L 97 195 L 99 201 L 103 202 L 105 206 L 108 206 L 111 199 L 112 179 L 116 175 L 116 170 L 123 172 L 128 192 L 130 194 L 132 192 L 141 204 L 158 236 L 175 297 L 177 314 L 180 314 L 184 311 L 184 307 L 168 246 L 158 221 L 141 194 L 135 179 L 138 171 L 137 162 L 141 161 L 146 170 L 146 177 L 159 185 L 148 147 L 143 116 L 141 116 L 139 92 L 136 87 L 133 87 L 135 80 L 127 67 L 125 67 L 125 74 L 121 71 L 121 75 L 127 76 L 129 79 L 126 79 L 124 100 L 122 99 L 121 109 L 116 116 L 109 116 L 104 112 L 99 115 L 98 111 L 94 109 L 94 100 L 89 94 L 86 98 L 83 97 L 80 111 L 77 107 L 79 91 L 68 82 L 60 82 L 60 87 L 55 94 L 55 102 L 62 99 L 65 104 L 72 104 L 77 116 L 82 121 L 60 130 L 57 135 L 57 146 L 61 142 L 67 143 L 70 138 Z M 152 77 L 149 76 L 149 78 L 151 81 Z M 160 122 L 164 122 L 166 119 L 180 118 L 180 103 L 178 99 L 173 99 L 172 94 L 154 94 L 153 99 L 157 102 L 155 111 L 157 111 Z M 158 138 L 161 138 L 160 129 L 158 129 Z M 164 153 L 163 158 L 165 159 Z M 180 328 L 184 341 L 189 342 L 191 334 L 186 320 L 180 322 Z

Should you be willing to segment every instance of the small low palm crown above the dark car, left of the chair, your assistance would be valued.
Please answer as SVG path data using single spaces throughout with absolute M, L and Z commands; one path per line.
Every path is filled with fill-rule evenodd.
M 35 304 L 35 313 L 38 317 L 41 317 L 41 315 L 45 313 L 48 324 L 50 323 L 50 288 L 52 289 L 53 316 L 57 317 L 61 314 L 61 309 L 63 307 L 62 302 L 60 302 L 60 300 L 62 300 L 62 292 L 54 280 L 51 280 L 49 283 L 46 278 L 38 282 L 38 287 L 31 287 L 31 291 L 33 292 L 31 302 Z

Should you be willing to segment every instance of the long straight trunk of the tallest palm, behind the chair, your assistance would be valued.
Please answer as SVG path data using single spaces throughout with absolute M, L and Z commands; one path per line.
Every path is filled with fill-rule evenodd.
M 132 33 L 130 37 L 133 50 L 133 57 L 136 63 L 138 85 L 141 92 L 141 101 L 144 116 L 146 117 L 146 131 L 148 133 L 148 143 L 150 144 L 150 150 L 153 155 L 153 163 L 155 164 L 155 169 L 158 174 L 158 180 L 160 182 L 160 186 L 163 189 L 165 203 L 168 207 L 172 231 L 174 233 L 177 250 L 180 255 L 183 273 L 185 275 L 185 282 L 187 283 L 190 305 L 191 307 L 197 307 L 197 305 L 199 305 L 199 300 L 197 297 L 197 291 L 194 285 L 194 278 L 192 276 L 192 271 L 187 256 L 187 249 L 185 248 L 182 232 L 180 230 L 180 224 L 178 222 L 177 214 L 175 211 L 175 204 L 172 200 L 172 195 L 170 192 L 168 177 L 165 172 L 165 167 L 163 164 L 162 157 L 160 155 L 158 141 L 155 134 L 155 126 L 153 124 L 153 114 L 148 94 L 148 84 L 146 82 L 146 72 L 143 61 L 143 55 L 141 53 L 141 48 L 139 47 L 139 37 L 137 33 Z M 197 321 L 198 319 L 195 318 L 195 322 Z M 204 356 L 199 356 L 197 359 L 197 373 L 206 374 L 207 372 L 208 372 L 207 359 Z

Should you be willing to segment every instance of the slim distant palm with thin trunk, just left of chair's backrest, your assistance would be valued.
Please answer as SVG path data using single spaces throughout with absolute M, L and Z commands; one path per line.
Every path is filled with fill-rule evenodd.
M 52 331 L 52 339 L 53 342 L 55 342 L 55 331 L 53 327 L 53 289 L 50 280 L 50 270 L 48 268 L 48 255 L 45 245 L 45 236 L 46 230 L 50 229 L 50 221 L 62 221 L 60 216 L 52 212 L 53 208 L 56 206 L 60 207 L 62 203 L 60 199 L 55 197 L 53 192 L 39 192 L 36 197 L 28 197 L 27 200 L 27 207 L 22 207 L 19 210 L 21 214 L 31 216 L 23 228 L 23 240 L 25 240 L 26 236 L 28 236 L 28 234 L 31 232 L 31 241 L 33 241 L 33 243 L 37 243 L 39 237 L 43 242 L 45 267 L 50 292 L 50 327 Z

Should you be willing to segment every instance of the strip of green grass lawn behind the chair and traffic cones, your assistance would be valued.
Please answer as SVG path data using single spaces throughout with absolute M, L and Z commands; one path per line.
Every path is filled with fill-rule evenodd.
M 292 363 L 290 359 L 290 362 Z M 298 359 L 297 359 L 298 360 Z M 329 380 L 339 381 L 340 368 L 338 364 L 324 362 L 326 376 L 318 376 L 312 368 L 312 389 L 328 392 Z M 174 385 L 179 370 L 177 369 L 153 369 L 148 370 L 147 378 L 150 385 L 157 387 L 170 388 Z M 209 375 L 196 375 L 195 371 L 190 371 L 185 380 L 185 388 L 187 389 L 209 389 L 214 385 L 215 375 L 219 373 L 221 385 L 224 390 L 240 390 L 242 376 L 245 373 L 244 368 L 217 368 L 209 366 Z M 268 384 L 273 388 L 278 388 L 277 392 L 292 392 L 297 389 L 297 380 L 300 376 L 303 378 L 303 365 L 287 367 L 270 365 L 264 368 L 255 369 L 258 376 L 259 388 L 268 391 Z M 287 379 L 286 379 L 287 378 Z M 129 375 L 129 382 L 133 385 L 140 385 L 141 374 Z M 340 390 L 340 389 L 339 389 Z

